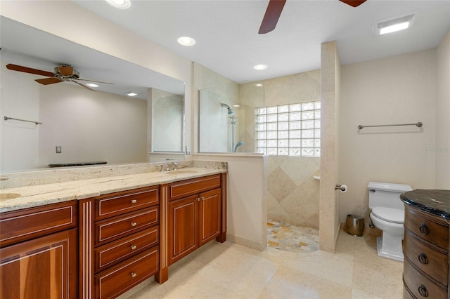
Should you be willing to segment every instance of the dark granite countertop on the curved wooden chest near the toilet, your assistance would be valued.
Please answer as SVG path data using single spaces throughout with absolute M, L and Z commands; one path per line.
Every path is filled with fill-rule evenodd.
M 400 196 L 406 204 L 450 221 L 450 190 L 413 190 Z

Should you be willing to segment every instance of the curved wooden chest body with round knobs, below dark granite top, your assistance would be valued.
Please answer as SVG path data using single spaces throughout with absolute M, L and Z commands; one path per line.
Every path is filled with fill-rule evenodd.
M 448 222 L 406 204 L 404 227 L 404 298 L 450 298 Z

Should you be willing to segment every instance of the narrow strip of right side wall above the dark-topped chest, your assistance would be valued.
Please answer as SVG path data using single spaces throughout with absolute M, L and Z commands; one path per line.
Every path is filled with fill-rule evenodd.
M 450 31 L 437 48 L 436 188 L 450 189 Z

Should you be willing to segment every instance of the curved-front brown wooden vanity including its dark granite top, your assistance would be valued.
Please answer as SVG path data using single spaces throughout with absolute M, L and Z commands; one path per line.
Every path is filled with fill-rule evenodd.
M 405 203 L 404 291 L 406 298 L 449 299 L 450 190 L 414 190 Z

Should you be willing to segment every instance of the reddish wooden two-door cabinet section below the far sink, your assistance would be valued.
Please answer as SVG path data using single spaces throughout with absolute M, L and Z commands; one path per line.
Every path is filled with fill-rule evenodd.
M 169 265 L 221 236 L 221 192 L 221 175 L 169 185 Z

